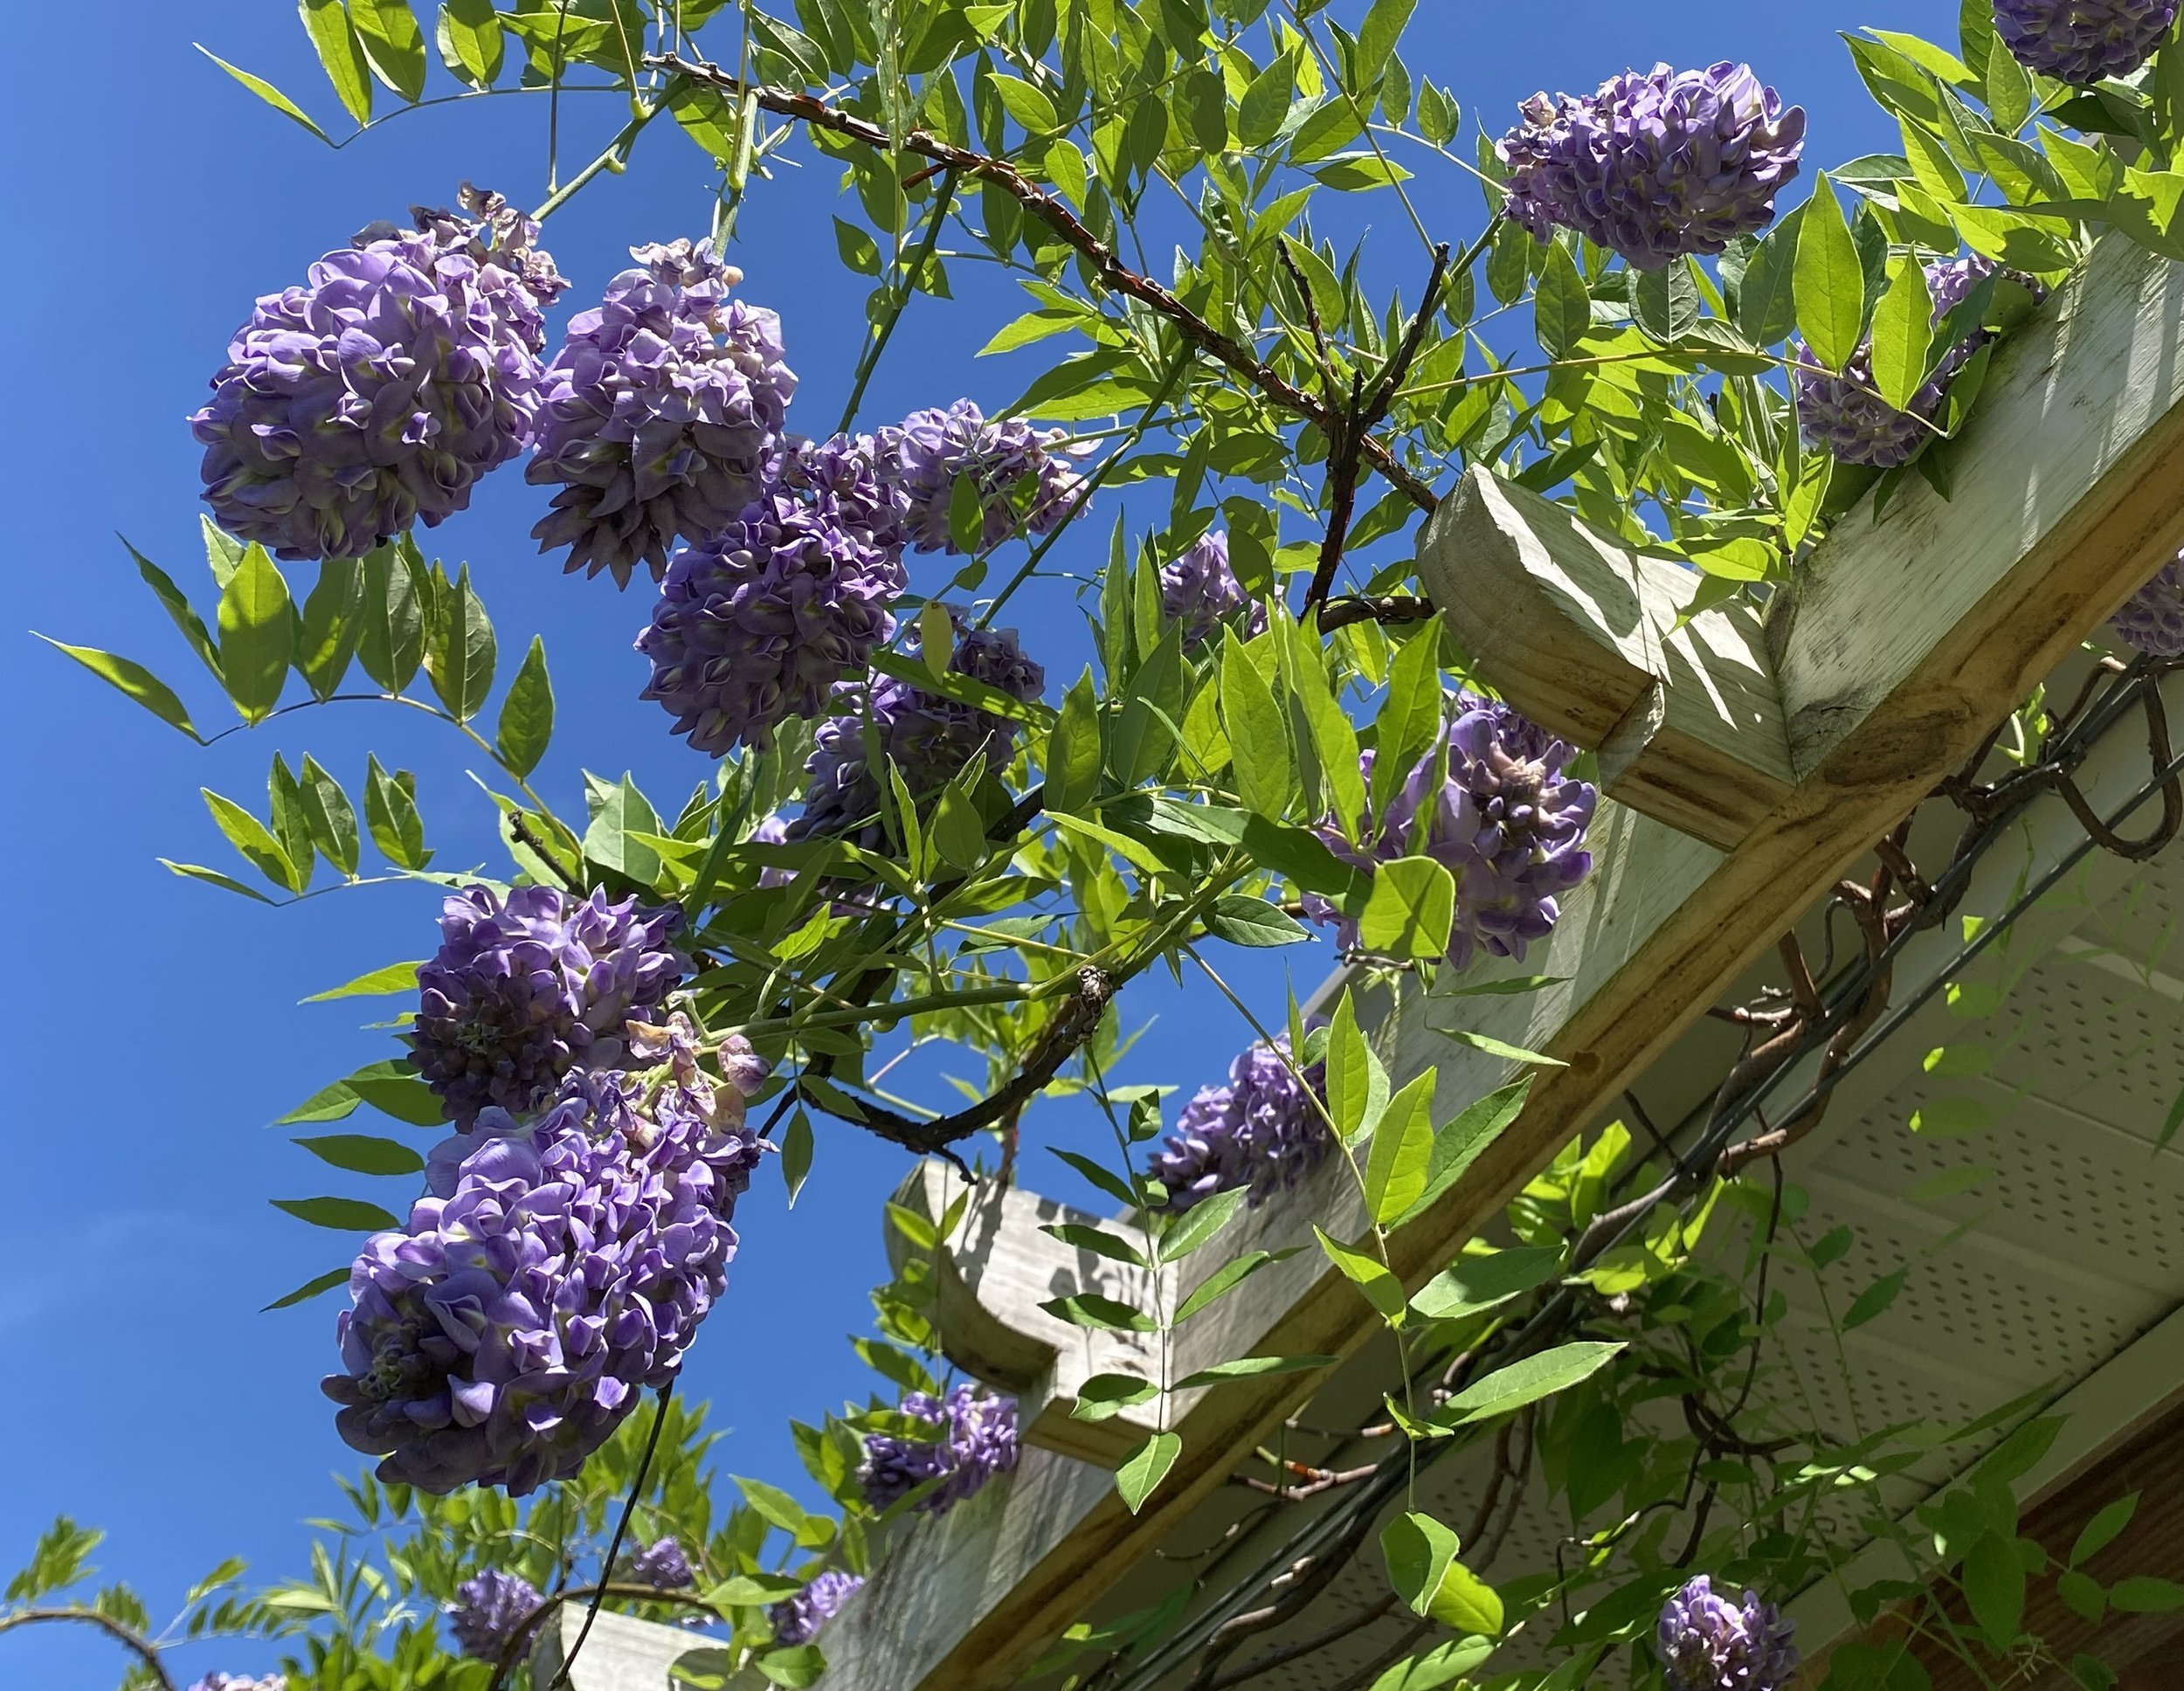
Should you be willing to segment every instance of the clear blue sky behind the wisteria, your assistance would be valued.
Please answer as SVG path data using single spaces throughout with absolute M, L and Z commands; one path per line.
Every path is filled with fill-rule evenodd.
M 1455 87 L 1468 127 L 1483 120 L 1498 133 L 1535 87 L 1592 87 L 1653 59 L 1749 59 L 1808 107 L 1815 166 L 1896 146 L 1832 31 L 1876 24 L 1952 44 L 1955 13 L 1955 0 L 1861 0 L 1845 11 L 1728 0 L 1441 4 L 1422 9 L 1406 61 Z M 301 1569 L 301 1518 L 332 1512 L 328 1475 L 358 1466 L 317 1390 L 332 1361 L 334 1302 L 258 1309 L 343 1256 L 336 1234 L 271 1210 L 266 1197 L 365 1182 L 317 1171 L 266 1123 L 387 1055 L 384 1033 L 358 1029 L 376 1005 L 297 1001 L 424 955 L 437 896 L 376 887 L 266 911 L 175 880 L 153 856 L 221 863 L 227 848 L 197 787 L 262 808 L 275 745 L 290 765 L 310 749 L 352 782 L 367 747 L 389 767 L 415 769 L 446 867 L 487 861 L 489 835 L 463 747 L 430 721 L 339 706 L 290 719 L 280 734 L 238 734 L 199 752 L 28 629 L 149 662 L 183 686 L 201 723 L 223 721 L 225 706 L 199 684 L 114 533 L 203 592 L 199 452 L 183 417 L 251 299 L 301 280 L 319 251 L 371 218 L 400 218 L 413 201 L 448 203 L 463 177 L 537 201 L 546 111 L 539 100 L 426 111 L 328 153 L 190 48 L 201 39 L 271 76 L 334 127 L 334 100 L 288 7 L 111 0 L 96 42 L 70 7 L 28 7 L 11 39 L 35 74 L 0 105 L 0 157 L 11 162 L 0 208 L 17 251 L 0 280 L 0 321 L 22 376 L 0 413 L 0 459 L 13 465 L 15 489 L 0 507 L 0 535 L 17 583 L 11 658 L 0 662 L 15 793 L 15 821 L 0 841 L 17 935 L 4 981 L 15 1202 L 0 1296 L 11 1374 L 0 1394 L 0 1569 L 20 1566 L 55 1512 L 70 1512 L 107 1527 L 100 1566 L 135 1582 L 159 1615 L 229 1553 L 247 1556 L 256 1575 Z M 612 103 L 579 107 L 566 151 L 587 157 L 612 122 Z M 810 157 L 802 144 L 795 151 Z M 563 210 L 546 238 L 574 282 L 563 315 L 596 299 L 631 243 L 701 234 L 703 175 L 697 151 L 660 127 L 631 175 L 601 179 Z M 1479 194 L 1465 179 L 1426 175 L 1415 188 L 1439 232 L 1461 240 L 1476 229 Z M 734 253 L 749 273 L 747 295 L 782 310 L 804 378 L 793 424 L 815 433 L 841 406 L 863 321 L 863 284 L 834 260 L 832 194 L 826 164 L 760 186 Z M 1415 295 L 1415 249 L 1387 245 L 1411 243 L 1398 208 L 1374 197 L 1363 210 L 1380 229 L 1376 249 L 1400 256 L 1404 293 Z M 998 312 L 1018 306 L 968 269 L 954 284 L 959 304 L 913 306 L 867 400 L 867 424 L 959 393 L 994 409 L 1020 391 L 1024 371 L 972 360 Z M 636 697 L 644 664 L 629 636 L 644 618 L 642 592 L 618 599 L 605 581 L 557 575 L 526 540 L 537 507 L 511 465 L 426 546 L 450 564 L 470 559 L 505 664 L 529 634 L 546 638 L 561 706 L 546 791 L 577 811 L 581 765 L 616 773 L 633 765 L 662 804 L 675 804 L 710 762 L 670 741 L 660 708 Z M 1090 529 L 1088 570 L 1103 555 L 1105 522 Z M 301 575 L 308 583 L 308 568 Z M 917 588 L 939 579 L 924 559 Z M 1064 590 L 1024 601 L 1013 620 L 1053 671 L 1081 662 Z M 1295 948 L 1282 961 L 1304 990 L 1328 953 Z M 1258 983 L 1265 1014 L 1280 1014 L 1280 977 Z M 1234 1027 L 1234 1038 L 1208 1040 L 1206 1007 L 1177 1016 L 1160 988 L 1133 996 L 1131 1020 L 1164 1014 L 1133 1053 L 1131 1079 L 1219 1079 L 1227 1051 L 1247 1038 Z M 1088 1130 L 1059 1105 L 1029 1123 L 1033 1138 Z M 1026 1167 L 1042 1189 L 1068 1191 L 1051 1158 L 1033 1154 Z M 878 1204 L 902 1173 L 893 1147 L 821 1127 L 795 1213 L 771 1175 L 745 1199 L 729 1293 L 686 1383 L 686 1396 L 712 1400 L 714 1424 L 729 1435 L 725 1468 L 802 1483 L 786 1418 L 867 1390 L 843 1335 L 865 1326 L 865 1289 L 885 1272 Z M 253 1654 L 194 1652 L 179 1665 L 242 1669 L 260 1665 Z M 0 1684 L 68 1691 L 116 1678 L 116 1658 L 92 1639 L 33 1630 L 0 1641 Z

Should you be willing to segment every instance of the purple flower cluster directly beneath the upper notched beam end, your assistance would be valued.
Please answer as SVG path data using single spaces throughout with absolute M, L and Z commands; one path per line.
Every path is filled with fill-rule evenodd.
M 1455 693 L 1441 734 L 1387 804 L 1358 819 L 1358 846 L 1332 821 L 1315 830 L 1345 863 L 1372 874 L 1398 856 L 1431 856 L 1457 878 L 1448 961 L 1463 968 L 1483 948 L 1522 961 L 1559 915 L 1559 896 L 1592 874 L 1586 828 L 1599 791 L 1564 771 L 1577 754 L 1498 699 Z M 1374 754 L 1361 758 L 1372 787 Z M 1358 924 L 1319 894 L 1317 922 L 1339 922 L 1341 944 Z

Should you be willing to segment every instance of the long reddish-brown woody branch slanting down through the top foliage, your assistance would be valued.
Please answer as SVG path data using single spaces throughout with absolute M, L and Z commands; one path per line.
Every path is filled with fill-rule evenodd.
M 646 55 L 644 66 L 649 70 L 664 70 L 673 76 L 684 76 L 703 87 L 716 87 L 723 94 L 732 94 L 738 100 L 749 98 L 762 111 L 771 111 L 778 118 L 793 118 L 812 129 L 826 129 L 834 135 L 847 135 L 850 140 L 863 142 L 878 149 L 898 149 L 895 138 L 887 133 L 885 127 L 856 118 L 841 111 L 817 94 L 804 94 L 786 87 L 767 87 L 764 83 L 747 83 L 734 72 L 721 70 L 721 66 L 708 63 L 703 59 L 684 59 L 675 52 L 653 52 Z M 1053 229 L 1061 240 L 1077 249 L 1092 273 L 1099 275 L 1112 293 L 1136 299 L 1142 306 L 1160 312 L 1168 319 L 1177 332 L 1190 341 L 1199 352 L 1227 365 L 1232 371 L 1251 382 L 1260 393 L 1273 400 L 1284 411 L 1304 417 L 1315 424 L 1321 433 L 1332 433 L 1334 415 L 1330 406 L 1308 395 L 1295 382 L 1284 378 L 1280 371 L 1269 367 L 1258 358 L 1247 345 L 1234 341 L 1232 336 L 1216 330 L 1203 317 L 1199 317 L 1190 306 L 1177 299 L 1168 288 L 1160 286 L 1147 275 L 1129 269 L 1114 256 L 1092 229 L 1088 229 L 1068 205 L 1048 194 L 1044 188 L 1035 186 L 1022 170 L 1018 170 L 1007 159 L 996 159 L 985 153 L 974 153 L 968 146 L 957 146 L 954 142 L 939 140 L 924 129 L 911 129 L 900 138 L 900 151 L 915 153 L 917 157 L 930 159 L 933 164 L 950 166 L 968 175 L 976 175 L 983 181 L 992 181 L 1009 199 L 1022 205 L 1031 216 L 1040 218 L 1048 229 Z M 1439 505 L 1439 496 L 1411 470 L 1406 470 L 1385 441 L 1365 439 L 1358 450 L 1365 461 L 1372 463 L 1387 481 L 1402 489 L 1417 509 L 1431 511 Z

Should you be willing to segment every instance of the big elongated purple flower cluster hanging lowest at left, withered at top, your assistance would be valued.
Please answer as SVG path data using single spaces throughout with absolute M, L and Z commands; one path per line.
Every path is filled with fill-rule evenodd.
M 583 1071 L 535 1123 L 487 1110 L 432 1149 L 406 1228 L 349 1269 L 323 1381 L 380 1479 L 520 1497 L 677 1376 L 767 1149 L 716 1092 Z

